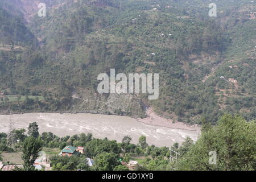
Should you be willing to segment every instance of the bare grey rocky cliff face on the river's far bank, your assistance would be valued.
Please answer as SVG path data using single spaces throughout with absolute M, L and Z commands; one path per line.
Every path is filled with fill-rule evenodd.
M 80 90 L 72 95 L 71 112 L 144 117 L 143 102 L 133 94 L 96 94 Z

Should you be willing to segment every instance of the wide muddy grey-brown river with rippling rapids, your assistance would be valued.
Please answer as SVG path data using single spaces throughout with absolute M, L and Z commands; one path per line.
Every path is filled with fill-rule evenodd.
M 9 131 L 9 123 L 13 122 L 15 129 L 27 129 L 28 124 L 37 122 L 39 132 L 50 131 L 64 137 L 66 135 L 92 133 L 95 138 L 115 139 L 121 142 L 125 135 L 130 135 L 137 144 L 141 135 L 147 137 L 148 144 L 155 146 L 172 146 L 175 142 L 182 143 L 186 136 L 196 140 L 200 134 L 199 127 L 179 125 L 148 125 L 143 121 L 131 117 L 102 114 L 56 114 L 56 113 L 30 113 L 0 115 L 0 132 Z M 176 125 L 174 125 L 176 126 Z

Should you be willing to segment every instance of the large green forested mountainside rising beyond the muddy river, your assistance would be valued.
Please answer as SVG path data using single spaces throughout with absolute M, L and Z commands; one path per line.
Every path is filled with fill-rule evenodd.
M 255 119 L 255 2 L 216 1 L 217 17 L 204 0 L 45 1 L 46 17 L 23 3 L 16 10 L 28 23 L 8 12 L 12 2 L 0 9 L 0 45 L 13 45 L 0 47 L 1 113 L 144 117 L 148 105 L 188 123 L 226 112 Z M 97 76 L 110 68 L 159 73 L 158 100 L 98 94 Z

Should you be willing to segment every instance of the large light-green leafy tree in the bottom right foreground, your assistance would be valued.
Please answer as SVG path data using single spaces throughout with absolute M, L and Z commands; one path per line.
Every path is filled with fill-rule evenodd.
M 256 125 L 240 116 L 224 115 L 217 126 L 205 129 L 178 163 L 180 170 L 255 170 Z M 191 143 L 187 141 L 187 143 Z M 209 164 L 209 152 L 217 163 Z

